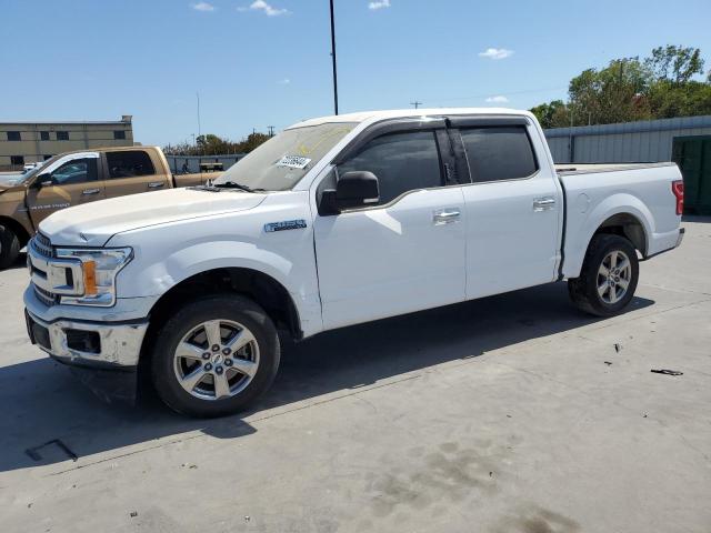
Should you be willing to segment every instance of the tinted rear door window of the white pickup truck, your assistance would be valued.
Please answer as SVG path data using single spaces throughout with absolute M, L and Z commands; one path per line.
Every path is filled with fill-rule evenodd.
M 538 170 L 523 125 L 460 130 L 474 182 L 518 180 Z

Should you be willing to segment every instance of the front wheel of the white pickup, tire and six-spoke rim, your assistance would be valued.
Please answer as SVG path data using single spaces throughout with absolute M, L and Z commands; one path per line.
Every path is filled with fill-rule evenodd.
M 219 335 L 217 350 L 208 329 L 213 341 Z M 176 311 L 157 332 L 151 380 L 161 400 L 179 413 L 233 414 L 270 388 L 280 351 L 277 329 L 257 303 L 238 294 L 206 296 Z

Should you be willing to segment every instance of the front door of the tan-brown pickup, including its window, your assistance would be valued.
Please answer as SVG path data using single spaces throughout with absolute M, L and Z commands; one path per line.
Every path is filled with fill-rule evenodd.
M 28 205 L 34 228 L 60 209 L 106 198 L 98 163 L 99 154 L 96 152 L 70 154 L 37 177 L 28 190 Z

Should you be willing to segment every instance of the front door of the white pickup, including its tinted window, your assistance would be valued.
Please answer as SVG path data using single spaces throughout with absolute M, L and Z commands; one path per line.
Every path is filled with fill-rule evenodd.
M 461 187 L 444 180 L 438 138 L 445 135 L 435 133 L 388 132 L 334 169 L 334 179 L 374 173 L 380 201 L 316 217 L 326 329 L 464 299 L 464 201 Z

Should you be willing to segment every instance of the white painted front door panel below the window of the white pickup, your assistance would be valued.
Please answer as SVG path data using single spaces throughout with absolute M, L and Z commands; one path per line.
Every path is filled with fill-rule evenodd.
M 442 212 L 459 217 L 433 223 Z M 316 217 L 324 328 L 463 301 L 465 218 L 461 187 L 413 191 L 383 209 Z

